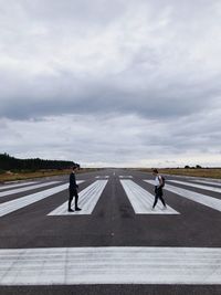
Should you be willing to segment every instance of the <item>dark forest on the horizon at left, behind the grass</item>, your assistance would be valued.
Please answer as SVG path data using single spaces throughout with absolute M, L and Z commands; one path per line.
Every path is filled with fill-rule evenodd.
M 73 161 L 60 161 L 60 160 L 42 160 L 34 159 L 17 159 L 8 154 L 0 154 L 0 170 L 40 170 L 40 169 L 69 169 L 70 167 L 77 165 Z M 78 165 L 77 165 L 78 166 Z

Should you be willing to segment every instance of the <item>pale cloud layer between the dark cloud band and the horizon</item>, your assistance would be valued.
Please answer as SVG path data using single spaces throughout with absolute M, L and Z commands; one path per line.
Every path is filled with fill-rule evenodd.
M 135 115 L 60 116 L 39 122 L 4 119 L 4 126 L 6 122 L 8 127 L 0 129 L 2 147 L 20 157 L 66 158 L 83 164 L 99 162 L 101 166 L 106 162 L 124 166 L 144 160 L 180 165 L 187 152 L 204 155 L 204 159 L 220 152 L 220 136 L 212 146 L 209 136 L 202 138 L 201 129 L 207 126 L 203 116 L 198 126 L 192 122 L 192 133 L 187 120 L 160 123 Z M 219 157 L 218 165 L 221 162 Z

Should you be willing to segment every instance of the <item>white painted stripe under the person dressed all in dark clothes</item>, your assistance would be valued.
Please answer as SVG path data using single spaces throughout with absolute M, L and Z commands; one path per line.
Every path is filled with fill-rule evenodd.
M 88 186 L 86 189 L 78 193 L 78 207 L 82 211 L 67 212 L 67 201 L 62 206 L 50 212 L 48 215 L 82 215 L 91 214 L 102 196 L 104 188 L 106 187 L 107 180 L 96 180 L 94 183 Z M 73 200 L 74 203 L 74 200 Z

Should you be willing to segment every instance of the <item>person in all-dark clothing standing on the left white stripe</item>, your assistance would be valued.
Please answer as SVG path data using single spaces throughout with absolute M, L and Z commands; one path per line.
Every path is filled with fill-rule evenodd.
M 74 166 L 72 169 L 72 172 L 70 175 L 70 187 L 69 187 L 69 191 L 70 191 L 70 198 L 69 198 L 69 212 L 74 212 L 74 210 L 72 209 L 72 200 L 75 197 L 75 211 L 81 211 L 82 209 L 77 207 L 77 201 L 78 201 L 78 193 L 77 193 L 77 189 L 78 186 L 76 185 L 76 177 L 75 177 L 75 172 L 78 169 L 78 166 Z

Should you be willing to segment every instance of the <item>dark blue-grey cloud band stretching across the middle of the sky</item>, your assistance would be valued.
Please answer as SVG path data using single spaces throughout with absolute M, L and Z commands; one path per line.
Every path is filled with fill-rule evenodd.
M 18 89 L 10 97 L 3 97 L 0 115 L 10 118 L 38 118 L 61 113 L 135 113 L 149 118 L 168 119 L 208 109 L 211 98 L 219 93 L 215 87 L 211 89 L 209 86 L 207 89 L 198 84 L 144 85 L 143 88 L 127 86 L 126 83 L 122 86 L 116 84 L 115 81 L 75 81 L 71 75 L 69 78 L 45 77 L 32 82 L 31 85 L 17 85 L 19 89 L 23 86 L 22 92 L 19 93 Z

